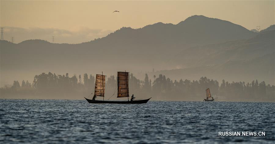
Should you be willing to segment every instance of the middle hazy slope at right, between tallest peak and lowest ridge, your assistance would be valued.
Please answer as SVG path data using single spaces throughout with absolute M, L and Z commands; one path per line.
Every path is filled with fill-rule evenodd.
M 168 64 L 178 68 L 217 65 L 229 60 L 250 60 L 274 52 L 274 30 L 260 32 L 247 40 L 235 40 L 190 47 L 172 58 Z

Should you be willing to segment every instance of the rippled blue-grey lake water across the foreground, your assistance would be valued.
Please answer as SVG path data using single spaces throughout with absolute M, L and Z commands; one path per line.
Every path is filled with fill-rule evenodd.
M 275 103 L 0 100 L 0 143 L 274 143 Z M 265 136 L 218 136 L 263 131 Z

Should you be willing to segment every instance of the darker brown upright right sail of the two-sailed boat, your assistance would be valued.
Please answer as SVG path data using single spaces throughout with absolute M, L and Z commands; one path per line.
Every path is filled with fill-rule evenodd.
M 117 97 L 129 97 L 129 72 L 117 72 Z

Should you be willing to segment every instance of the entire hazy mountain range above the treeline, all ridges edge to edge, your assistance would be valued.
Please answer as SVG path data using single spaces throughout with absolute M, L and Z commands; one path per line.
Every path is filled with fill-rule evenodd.
M 210 71 L 226 77 L 227 66 L 233 71 L 240 67 L 251 70 L 257 69 L 259 61 L 267 64 L 262 65 L 266 66 L 262 67 L 265 71 L 267 67 L 272 68 L 272 64 L 274 67 L 273 27 L 256 33 L 229 21 L 195 15 L 176 25 L 159 22 L 138 29 L 123 27 L 106 37 L 81 44 L 1 41 L 1 86 L 2 81 L 30 80 L 34 74 L 47 71 L 115 74 L 121 70 L 136 73 L 155 68 L 167 72 L 167 77 L 178 79 L 190 78 L 189 75 L 195 73 L 206 76 L 198 69 L 211 67 Z M 178 73 L 187 69 L 191 71 Z M 245 74 L 235 78 L 248 80 L 257 76 L 266 81 L 273 79 L 274 83 L 274 77 L 265 78 L 266 73 L 274 74 L 274 69 L 267 71 L 255 77 L 252 72 L 247 78 Z

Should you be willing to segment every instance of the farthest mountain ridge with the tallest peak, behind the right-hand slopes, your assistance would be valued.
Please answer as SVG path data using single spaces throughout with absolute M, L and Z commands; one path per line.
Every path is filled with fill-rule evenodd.
M 121 28 L 106 37 L 81 44 L 1 41 L 1 82 L 26 79 L 45 71 L 113 74 L 125 69 L 172 69 L 176 66 L 165 65 L 167 61 L 189 47 L 249 39 L 256 35 L 229 21 L 195 15 L 177 25 L 156 23 L 138 29 Z

